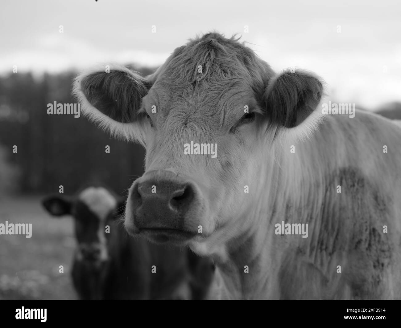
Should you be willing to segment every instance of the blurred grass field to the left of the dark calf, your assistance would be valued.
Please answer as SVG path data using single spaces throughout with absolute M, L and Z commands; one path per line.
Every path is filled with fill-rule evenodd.
M 0 235 L 0 300 L 77 299 L 70 274 L 73 221 L 51 218 L 40 200 L 0 199 L 0 223 L 32 223 L 31 238 Z

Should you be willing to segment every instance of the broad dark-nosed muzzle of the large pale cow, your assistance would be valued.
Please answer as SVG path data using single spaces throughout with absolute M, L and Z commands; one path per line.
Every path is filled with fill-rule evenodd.
M 130 188 L 125 226 L 156 242 L 182 243 L 197 234 L 202 207 L 193 181 L 171 171 L 150 171 Z

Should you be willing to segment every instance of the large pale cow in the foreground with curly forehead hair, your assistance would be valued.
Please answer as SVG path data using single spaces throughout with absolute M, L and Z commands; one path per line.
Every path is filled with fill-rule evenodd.
M 150 76 L 98 66 L 73 92 L 91 121 L 146 148 L 127 231 L 211 256 L 209 298 L 401 297 L 401 130 L 328 111 L 316 74 L 276 73 L 211 32 Z

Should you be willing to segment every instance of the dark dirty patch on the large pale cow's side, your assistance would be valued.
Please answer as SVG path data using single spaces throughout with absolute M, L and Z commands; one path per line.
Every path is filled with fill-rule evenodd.
M 337 185 L 341 193 L 336 192 Z M 383 277 L 392 259 L 391 237 L 382 233 L 383 225 L 388 225 L 393 215 L 391 200 L 381 185 L 356 167 L 332 172 L 325 186 L 321 215 L 317 216 L 322 221 L 303 221 L 309 223 L 307 239 L 312 239 L 287 254 L 280 267 L 281 298 L 321 298 L 317 286 L 325 290 L 325 298 L 349 298 L 344 294 L 346 285 L 352 298 L 380 298 L 385 292 Z M 301 213 L 288 203 L 286 222 L 300 220 Z M 315 225 L 317 230 L 311 231 Z M 336 273 L 338 265 L 341 273 Z M 295 279 L 294 272 L 298 272 Z

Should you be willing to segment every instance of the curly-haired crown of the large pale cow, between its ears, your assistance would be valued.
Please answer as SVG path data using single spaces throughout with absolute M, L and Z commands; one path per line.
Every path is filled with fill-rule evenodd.
M 273 76 L 270 66 L 239 42 L 239 38 L 209 33 L 176 48 L 152 78 L 156 89 L 162 90 L 159 93 L 187 98 L 186 94 L 196 90 L 203 95 L 203 90 L 209 93 L 214 90 L 221 95 L 227 88 L 261 96 Z

